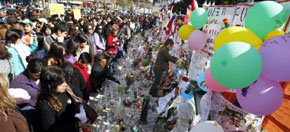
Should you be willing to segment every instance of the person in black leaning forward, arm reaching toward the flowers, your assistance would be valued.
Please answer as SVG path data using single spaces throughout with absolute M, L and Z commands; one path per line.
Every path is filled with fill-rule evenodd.
M 98 92 L 102 88 L 103 82 L 105 82 L 106 79 L 112 80 L 118 84 L 120 84 L 120 81 L 118 81 L 111 73 L 110 73 L 110 65 L 109 65 L 110 58 L 108 55 L 96 55 L 95 61 L 96 63 L 92 67 L 90 80 L 92 83 L 92 91 Z

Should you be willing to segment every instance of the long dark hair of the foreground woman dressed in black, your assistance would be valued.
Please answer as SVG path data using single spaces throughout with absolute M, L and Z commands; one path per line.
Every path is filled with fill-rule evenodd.
M 47 101 L 49 107 L 59 111 L 62 103 L 56 97 L 57 86 L 65 82 L 63 71 L 57 66 L 48 66 L 40 74 L 40 94 L 38 100 Z

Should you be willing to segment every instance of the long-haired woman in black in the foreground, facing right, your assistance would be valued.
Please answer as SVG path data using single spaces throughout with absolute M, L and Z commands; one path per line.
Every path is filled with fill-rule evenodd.
M 76 132 L 75 107 L 66 89 L 63 71 L 57 66 L 48 66 L 40 75 L 40 94 L 36 110 L 41 132 Z

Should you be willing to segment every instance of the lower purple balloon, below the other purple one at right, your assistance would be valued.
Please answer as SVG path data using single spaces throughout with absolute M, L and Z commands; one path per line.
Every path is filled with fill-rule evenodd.
M 277 110 L 283 101 L 283 90 L 278 81 L 261 75 L 256 83 L 236 91 L 243 109 L 255 115 L 268 115 Z

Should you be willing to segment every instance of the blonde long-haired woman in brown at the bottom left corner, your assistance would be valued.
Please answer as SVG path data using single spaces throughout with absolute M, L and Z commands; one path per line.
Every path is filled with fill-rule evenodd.
M 9 80 L 0 73 L 0 130 L 9 132 L 28 132 L 25 118 L 14 110 L 16 101 L 8 94 Z

